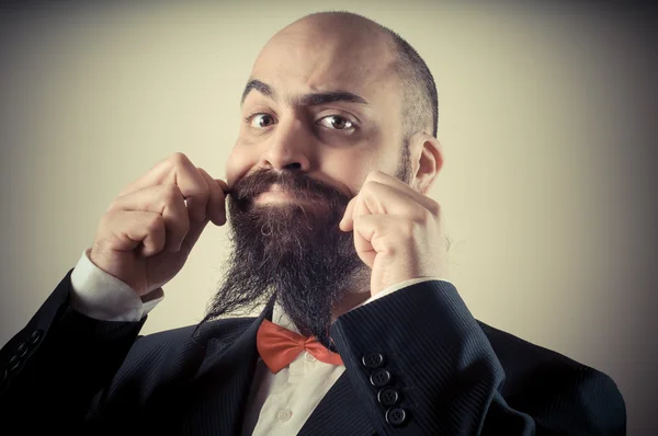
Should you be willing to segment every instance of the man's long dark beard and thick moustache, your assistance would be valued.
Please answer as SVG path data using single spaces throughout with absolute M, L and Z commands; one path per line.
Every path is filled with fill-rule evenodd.
M 401 151 L 396 176 L 408 182 L 407 141 Z M 254 205 L 253 199 L 275 183 L 296 200 Z M 232 250 L 197 329 L 275 299 L 303 334 L 336 349 L 329 337 L 332 310 L 347 294 L 370 286 L 370 268 L 356 254 L 352 232 L 338 227 L 350 199 L 295 170 L 259 169 L 237 182 L 228 197 Z

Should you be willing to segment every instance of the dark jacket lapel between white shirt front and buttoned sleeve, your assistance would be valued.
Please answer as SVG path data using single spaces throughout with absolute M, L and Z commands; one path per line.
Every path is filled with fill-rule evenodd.
M 343 372 L 310 414 L 298 435 L 367 436 L 374 434 L 375 428 L 359 403 L 348 374 Z

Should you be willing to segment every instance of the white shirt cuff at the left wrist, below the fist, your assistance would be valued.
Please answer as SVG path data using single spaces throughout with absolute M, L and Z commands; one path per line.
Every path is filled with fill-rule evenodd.
M 94 265 L 90 252 L 82 252 L 71 273 L 70 306 L 78 312 L 99 321 L 136 322 L 164 298 L 143 302 L 133 288 Z

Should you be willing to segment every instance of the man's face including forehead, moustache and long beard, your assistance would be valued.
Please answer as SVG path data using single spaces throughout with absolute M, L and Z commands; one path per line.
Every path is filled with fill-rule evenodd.
M 256 61 L 227 163 L 234 250 L 206 320 L 274 296 L 331 347 L 336 308 L 367 291 L 338 223 L 370 171 L 406 172 L 401 96 L 386 45 L 341 25 L 298 22 Z

